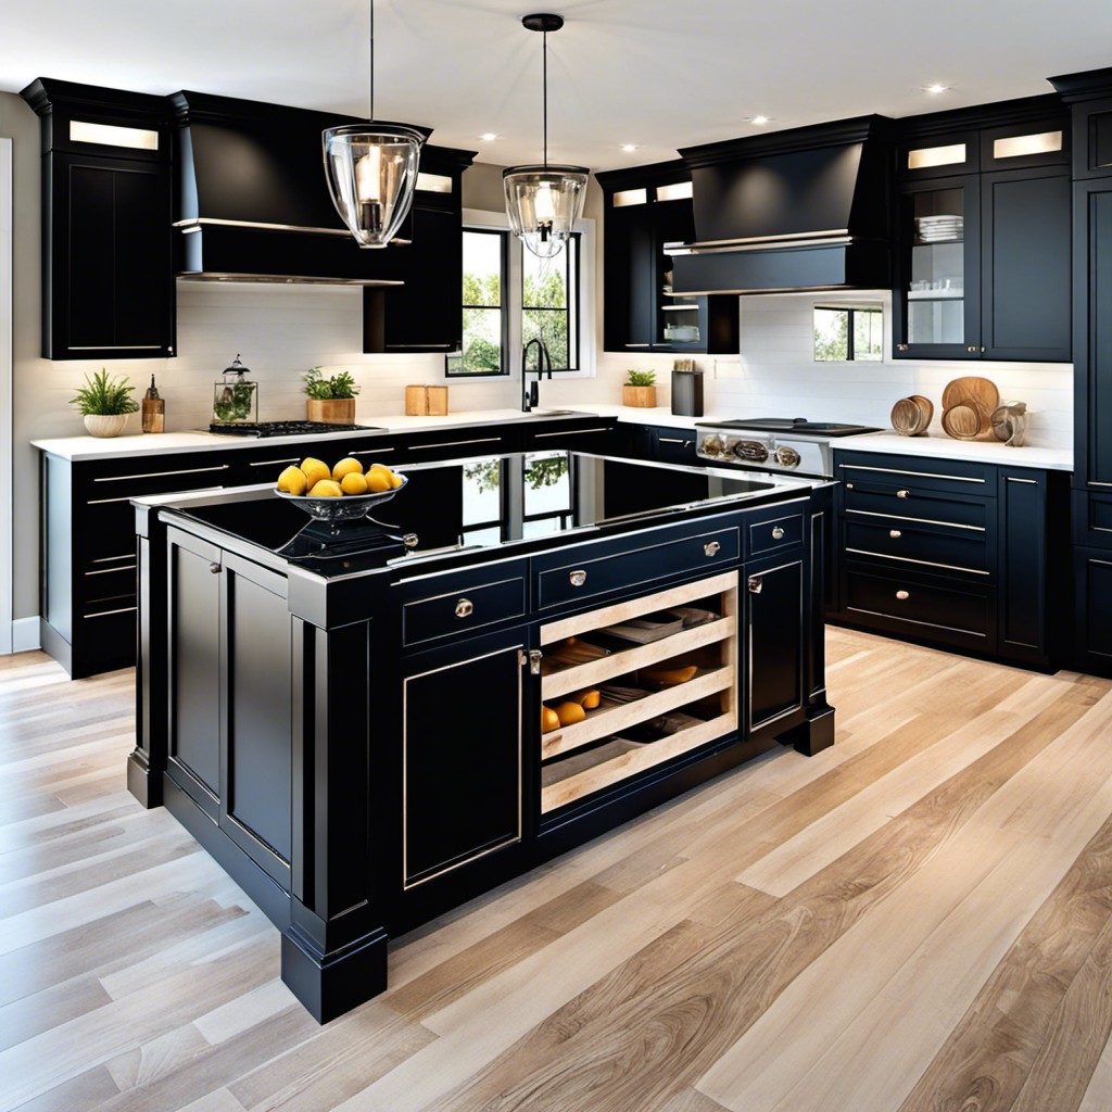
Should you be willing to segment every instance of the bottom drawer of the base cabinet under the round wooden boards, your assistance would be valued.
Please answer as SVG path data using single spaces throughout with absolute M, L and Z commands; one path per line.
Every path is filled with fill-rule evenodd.
M 994 647 L 995 592 L 991 587 L 847 565 L 844 589 L 846 612 L 862 624 L 984 652 Z

